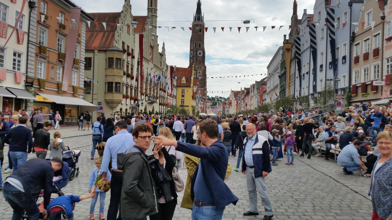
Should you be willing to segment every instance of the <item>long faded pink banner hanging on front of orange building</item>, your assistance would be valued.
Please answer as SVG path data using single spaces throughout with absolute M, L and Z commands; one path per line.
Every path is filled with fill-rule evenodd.
M 80 20 L 80 8 L 71 7 L 69 11 L 71 19 L 77 21 L 75 24 L 69 23 L 69 32 L 67 36 L 67 51 L 65 54 L 74 54 L 76 47 L 76 40 L 79 33 L 79 20 Z M 65 56 L 64 74 L 63 74 L 63 86 L 62 91 L 68 92 L 69 79 L 71 78 L 72 66 L 74 63 L 73 56 Z

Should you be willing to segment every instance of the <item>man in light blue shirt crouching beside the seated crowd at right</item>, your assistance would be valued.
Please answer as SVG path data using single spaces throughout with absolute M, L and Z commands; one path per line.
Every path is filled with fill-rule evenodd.
M 343 173 L 351 175 L 356 170 L 362 170 L 361 175 L 365 173 L 367 168 L 358 155 L 358 149 L 361 147 L 361 141 L 355 141 L 348 144 L 338 155 L 338 164 L 343 166 Z

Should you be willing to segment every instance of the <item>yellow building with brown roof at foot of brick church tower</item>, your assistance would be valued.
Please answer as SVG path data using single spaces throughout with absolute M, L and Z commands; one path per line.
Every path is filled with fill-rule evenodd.
M 192 95 L 193 95 L 193 67 L 177 67 L 173 76 L 177 78 L 177 107 L 185 108 L 192 113 Z

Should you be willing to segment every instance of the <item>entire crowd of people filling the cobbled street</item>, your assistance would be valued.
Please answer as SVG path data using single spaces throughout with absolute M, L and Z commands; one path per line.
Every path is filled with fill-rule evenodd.
M 325 160 L 329 160 L 329 152 L 338 149 L 337 162 L 343 166 L 345 174 L 362 170 L 363 177 L 371 178 L 368 193 L 372 197 L 372 219 L 391 220 L 392 204 L 388 198 L 392 191 L 388 186 L 392 178 L 392 125 L 389 111 L 392 115 L 390 102 L 387 106 L 368 103 L 361 109 L 354 105 L 339 114 L 333 110 L 324 114 L 321 109 L 294 112 L 291 108 L 219 117 L 139 113 L 126 117 L 110 114 L 106 118 L 101 114 L 91 124 L 90 157 L 94 166 L 88 186 L 90 195 L 70 196 L 56 202 L 68 204 L 92 198 L 90 220 L 95 219 L 98 197 L 98 218 L 101 220 L 145 220 L 147 216 L 152 220 L 172 219 L 178 202 L 181 207 L 192 210 L 192 219 L 221 219 L 224 208 L 238 202 L 224 182 L 231 174 L 231 154 L 237 157 L 234 171 L 241 171 L 247 182 L 249 211 L 243 215 L 259 215 L 257 197 L 260 195 L 265 209 L 263 219 L 270 220 L 274 213 L 265 178 L 272 166 L 278 166 L 284 154 L 287 155 L 284 164 L 293 166 L 294 153 L 300 157 L 307 155 L 308 159 L 311 155 L 320 157 L 324 154 Z M 79 126 L 87 126 L 89 130 L 89 124 L 84 122 L 88 119 L 87 114 L 80 115 Z M 1 117 L 4 114 L 2 116 L 0 112 Z M 40 117 L 36 120 L 40 122 Z M 1 122 L 0 127 L 9 126 Z M 31 198 L 35 196 L 34 192 L 25 191 L 24 186 L 47 186 L 53 178 L 51 173 L 62 166 L 59 156 L 66 144 L 60 139 L 60 132 L 55 132 L 50 139 L 48 130 L 54 126 L 51 121 L 39 125 L 40 129 L 33 134 L 25 126 L 27 117 L 19 117 L 16 124 L 18 126 L 8 129 L 4 137 L 0 130 L 2 142 L 9 144 L 9 161 L 13 164 L 13 174 L 5 179 L 3 194 L 14 210 L 15 219 L 19 219 L 21 210 L 27 211 L 30 219 L 38 219 L 32 218 L 38 208 L 18 201 L 11 194 L 19 190 Z M 151 146 L 152 154 L 147 155 Z M 38 158 L 33 162 L 39 164 L 36 160 L 45 159 L 47 150 L 51 151 L 51 164 L 47 162 L 42 166 L 47 167 L 50 175 L 34 184 L 29 182 L 29 177 L 21 179 L 27 174 L 22 175 L 18 170 L 28 170 L 27 163 L 32 160 L 26 162 L 27 153 L 34 152 Z M 366 157 L 365 162 L 363 157 Z M 177 172 L 182 159 L 188 174 L 186 181 L 181 180 Z M 105 216 L 104 201 L 109 190 L 110 203 Z M 178 201 L 177 193 L 181 191 L 184 196 Z M 52 206 L 44 197 L 45 215 L 48 207 Z

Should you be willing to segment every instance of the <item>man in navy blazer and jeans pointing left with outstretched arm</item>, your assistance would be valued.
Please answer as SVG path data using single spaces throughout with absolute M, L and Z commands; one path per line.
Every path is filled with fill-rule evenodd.
M 238 198 L 223 181 L 227 171 L 229 155 L 221 140 L 218 140 L 218 124 L 209 119 L 200 123 L 199 137 L 206 146 L 198 146 L 165 137 L 158 139 L 158 146 L 174 146 L 176 150 L 200 157 L 191 182 L 193 200 L 192 219 L 221 219 L 225 206 L 236 205 Z M 203 207 L 203 211 L 201 211 Z

